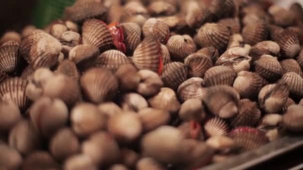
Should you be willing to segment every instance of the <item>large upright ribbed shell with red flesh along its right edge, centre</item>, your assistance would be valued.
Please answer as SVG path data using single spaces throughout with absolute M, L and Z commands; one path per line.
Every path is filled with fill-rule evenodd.
M 158 72 L 161 56 L 160 43 L 153 37 L 146 37 L 136 48 L 132 60 L 139 70 Z

